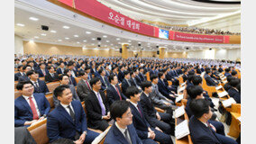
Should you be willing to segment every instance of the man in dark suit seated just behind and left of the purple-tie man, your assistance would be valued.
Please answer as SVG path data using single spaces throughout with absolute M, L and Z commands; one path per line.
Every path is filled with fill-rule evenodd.
M 81 76 L 81 80 L 78 82 L 77 91 L 81 102 L 83 102 L 86 101 L 92 87 L 89 84 L 87 72 L 79 72 L 79 76 Z

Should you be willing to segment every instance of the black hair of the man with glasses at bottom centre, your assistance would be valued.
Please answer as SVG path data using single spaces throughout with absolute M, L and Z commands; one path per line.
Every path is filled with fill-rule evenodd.
M 116 121 L 116 118 L 122 118 L 123 113 L 125 113 L 129 108 L 129 102 L 127 101 L 114 101 L 110 105 L 110 115 Z

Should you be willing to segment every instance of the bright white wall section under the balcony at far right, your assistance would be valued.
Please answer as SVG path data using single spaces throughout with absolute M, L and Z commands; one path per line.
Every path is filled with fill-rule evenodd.
M 208 59 L 241 59 L 241 49 L 212 49 L 188 51 L 187 58 L 208 58 Z

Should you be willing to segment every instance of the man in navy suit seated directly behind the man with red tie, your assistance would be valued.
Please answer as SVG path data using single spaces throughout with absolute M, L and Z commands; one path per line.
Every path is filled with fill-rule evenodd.
M 27 76 L 34 85 L 34 93 L 49 93 L 49 89 L 44 81 L 38 78 L 38 73 L 34 70 L 28 71 Z

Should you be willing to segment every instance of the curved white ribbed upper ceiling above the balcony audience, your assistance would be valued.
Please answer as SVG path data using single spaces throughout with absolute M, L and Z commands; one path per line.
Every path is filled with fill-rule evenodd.
M 169 24 L 199 23 L 240 12 L 241 4 L 206 4 L 192 0 L 97 0 L 136 20 Z

